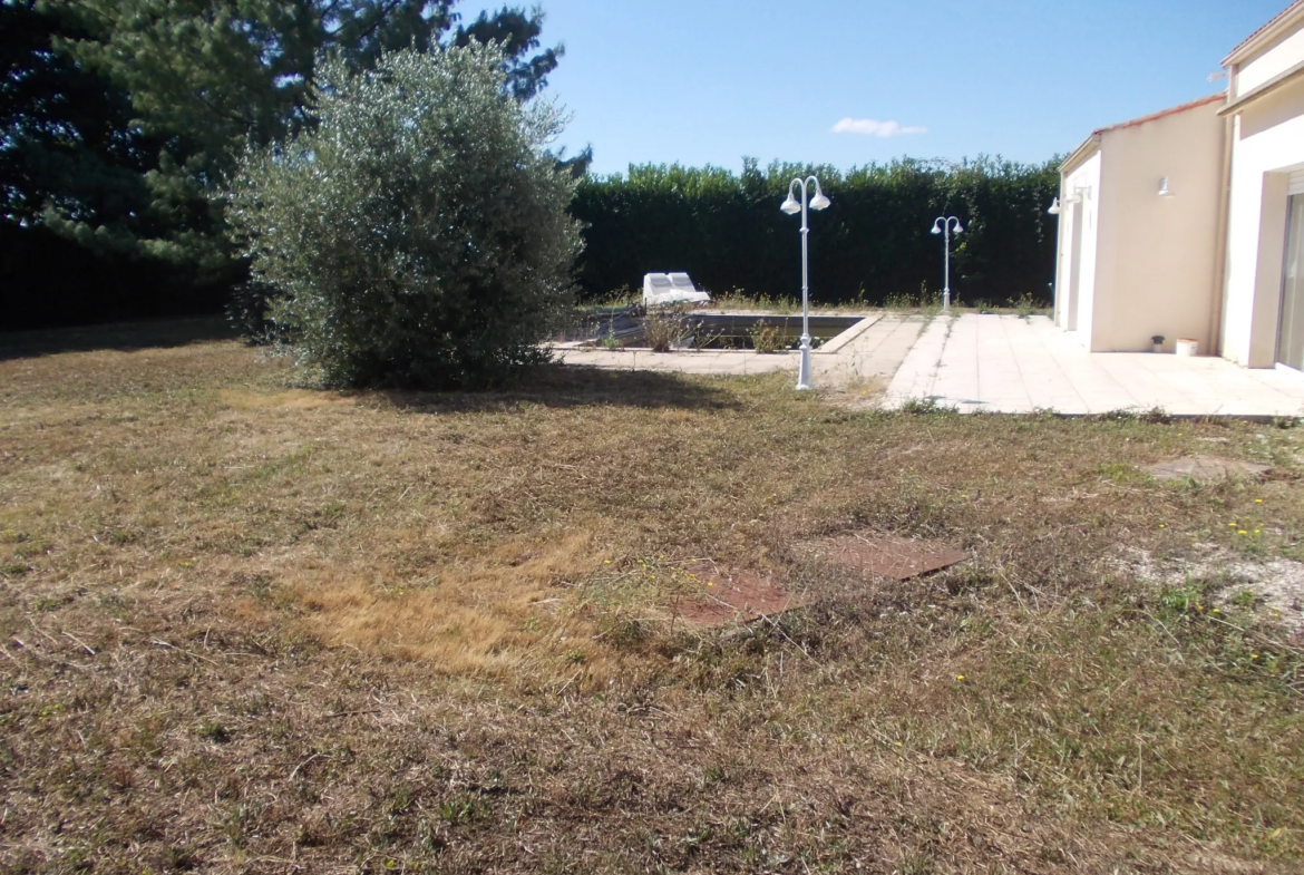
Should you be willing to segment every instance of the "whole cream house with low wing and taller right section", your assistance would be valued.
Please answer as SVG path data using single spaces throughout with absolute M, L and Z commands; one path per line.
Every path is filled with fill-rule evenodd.
M 1094 352 L 1193 339 L 1304 370 L 1304 0 L 1227 90 L 1094 132 L 1064 162 L 1055 321 Z

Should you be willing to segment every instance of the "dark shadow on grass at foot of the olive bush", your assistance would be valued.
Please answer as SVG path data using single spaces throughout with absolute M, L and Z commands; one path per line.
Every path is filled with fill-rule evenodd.
M 734 409 L 733 393 L 686 379 L 679 374 L 648 370 L 601 370 L 572 365 L 540 365 L 510 386 L 493 391 L 378 393 L 398 409 L 421 413 L 509 411 L 522 404 L 545 407 L 681 407 Z

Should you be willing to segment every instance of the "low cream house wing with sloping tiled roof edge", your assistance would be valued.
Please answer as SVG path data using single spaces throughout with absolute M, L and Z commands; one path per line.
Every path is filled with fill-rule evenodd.
M 1060 170 L 1055 321 L 1093 351 L 1154 335 L 1209 348 L 1217 299 L 1222 95 L 1110 128 Z

